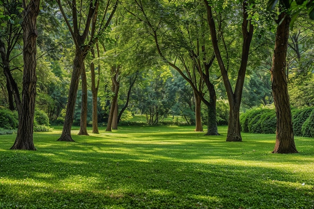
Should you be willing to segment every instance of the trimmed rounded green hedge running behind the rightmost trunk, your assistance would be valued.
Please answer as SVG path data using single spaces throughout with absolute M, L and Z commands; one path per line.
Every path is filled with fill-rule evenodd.
M 295 136 L 314 137 L 314 107 L 293 109 L 292 124 Z M 274 108 L 251 109 L 240 116 L 241 130 L 248 133 L 275 133 Z

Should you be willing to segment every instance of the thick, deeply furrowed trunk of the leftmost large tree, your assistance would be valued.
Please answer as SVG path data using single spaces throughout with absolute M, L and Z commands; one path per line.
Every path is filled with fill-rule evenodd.
M 19 128 L 17 138 L 11 149 L 36 150 L 33 142 L 33 124 L 36 98 L 36 55 L 37 44 L 37 16 L 39 13 L 39 0 L 32 1 L 28 6 L 23 1 L 23 91 L 22 91 L 22 111 L 19 117 Z

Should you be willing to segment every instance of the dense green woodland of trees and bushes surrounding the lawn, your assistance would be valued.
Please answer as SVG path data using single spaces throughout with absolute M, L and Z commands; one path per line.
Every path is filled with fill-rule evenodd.
M 36 150 L 50 125 L 74 141 L 72 126 L 176 116 L 205 135 L 228 125 L 226 141 L 276 133 L 274 153 L 297 153 L 294 135 L 314 137 L 313 16 L 308 0 L 1 0 L 0 131 Z

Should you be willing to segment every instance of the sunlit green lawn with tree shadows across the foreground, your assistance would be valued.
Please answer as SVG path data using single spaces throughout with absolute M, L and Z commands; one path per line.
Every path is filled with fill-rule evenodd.
M 0 208 L 314 208 L 313 138 L 298 154 L 272 154 L 275 135 L 243 142 L 192 126 L 125 126 L 56 141 L 35 133 L 38 151 L 9 150 L 0 136 Z

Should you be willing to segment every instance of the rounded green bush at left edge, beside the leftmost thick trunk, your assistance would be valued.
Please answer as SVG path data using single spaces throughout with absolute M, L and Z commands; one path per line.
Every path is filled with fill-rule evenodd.
M 18 112 L 8 109 L 0 109 L 0 128 L 16 129 L 19 126 Z

